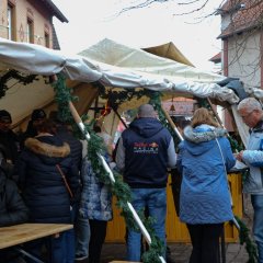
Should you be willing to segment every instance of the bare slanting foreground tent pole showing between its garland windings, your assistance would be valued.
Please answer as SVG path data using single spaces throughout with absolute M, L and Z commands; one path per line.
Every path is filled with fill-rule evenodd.
M 89 133 L 87 132 L 87 129 L 84 127 L 84 124 L 82 123 L 82 119 L 80 118 L 80 116 L 79 116 L 78 112 L 76 111 L 76 107 L 75 107 L 75 105 L 72 104 L 71 101 L 69 102 L 69 108 L 70 108 L 70 112 L 71 112 L 73 118 L 75 118 L 75 122 L 78 124 L 80 130 L 83 133 L 83 135 L 85 136 L 85 139 L 89 141 L 91 137 L 90 137 Z M 115 183 L 115 179 L 114 179 L 113 172 L 110 169 L 110 167 L 107 165 L 104 157 L 102 155 L 100 155 L 100 153 L 98 153 L 98 156 L 99 156 L 99 158 L 102 161 L 103 168 L 108 173 L 111 182 Z M 151 237 L 150 237 L 149 232 L 147 231 L 146 227 L 144 226 L 144 224 L 142 224 L 141 219 L 139 218 L 138 214 L 136 213 L 136 210 L 134 209 L 133 205 L 129 202 L 127 202 L 127 205 L 129 207 L 129 210 L 133 214 L 133 217 L 134 217 L 135 221 L 137 222 L 140 231 L 141 231 L 141 233 L 144 235 L 147 243 L 151 244 Z M 159 259 L 160 259 L 160 261 L 162 263 L 165 263 L 165 260 L 163 259 L 163 256 L 159 255 Z

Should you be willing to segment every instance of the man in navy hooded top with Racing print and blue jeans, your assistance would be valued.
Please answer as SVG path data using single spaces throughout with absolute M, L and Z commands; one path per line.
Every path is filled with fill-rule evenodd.
M 155 218 L 156 235 L 165 245 L 167 168 L 176 163 L 171 134 L 156 117 L 150 104 L 138 110 L 138 118 L 123 132 L 116 153 L 116 164 L 130 186 L 133 206 L 138 211 L 148 207 Z M 127 260 L 140 261 L 140 233 L 128 230 Z M 165 251 L 163 251 L 163 255 Z

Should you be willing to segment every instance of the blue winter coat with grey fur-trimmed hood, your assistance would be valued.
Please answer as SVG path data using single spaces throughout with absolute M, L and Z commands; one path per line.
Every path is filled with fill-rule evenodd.
M 183 173 L 180 194 L 183 222 L 219 224 L 233 217 L 226 170 L 235 165 L 236 159 L 224 135 L 225 130 L 208 125 L 184 130 L 178 160 Z

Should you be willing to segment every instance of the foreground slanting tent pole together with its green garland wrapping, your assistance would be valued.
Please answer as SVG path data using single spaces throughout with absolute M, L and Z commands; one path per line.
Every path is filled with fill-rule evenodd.
M 89 142 L 88 147 L 88 156 L 91 160 L 91 165 L 99 176 L 99 180 L 105 184 L 111 186 L 113 194 L 117 197 L 117 206 L 122 209 L 122 215 L 125 217 L 126 226 L 129 229 L 140 230 L 149 244 L 149 250 L 142 254 L 142 260 L 146 263 L 165 263 L 162 254 L 164 254 L 163 243 L 158 239 L 155 235 L 152 228 L 149 228 L 149 231 L 145 227 L 151 226 L 151 218 L 147 219 L 144 217 L 144 211 L 140 211 L 139 215 L 134 209 L 130 199 L 132 194 L 127 184 L 125 184 L 122 180 L 122 176 L 117 174 L 117 172 L 112 172 L 108 168 L 106 161 L 103 157 L 104 147 L 102 147 L 102 139 L 98 138 L 91 127 L 85 125 L 78 112 L 76 111 L 72 102 L 70 90 L 66 88 L 65 79 L 62 76 L 58 76 L 58 80 L 54 84 L 54 89 L 56 91 L 56 101 L 58 103 L 59 108 L 61 110 L 61 115 L 64 116 L 64 121 L 71 121 L 72 116 L 75 123 L 78 125 L 82 135 Z M 61 98 L 64 98 L 61 100 Z M 71 113 L 71 114 L 70 114 Z M 70 116 L 72 115 L 72 116 Z M 73 124 L 73 123 L 72 123 Z M 99 157 L 99 158 L 98 158 Z M 142 224 L 142 219 L 146 222 Z

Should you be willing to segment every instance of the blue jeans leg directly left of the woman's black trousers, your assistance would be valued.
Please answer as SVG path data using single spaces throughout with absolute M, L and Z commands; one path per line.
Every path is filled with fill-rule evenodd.
M 76 256 L 89 256 L 90 224 L 80 215 L 76 222 Z

